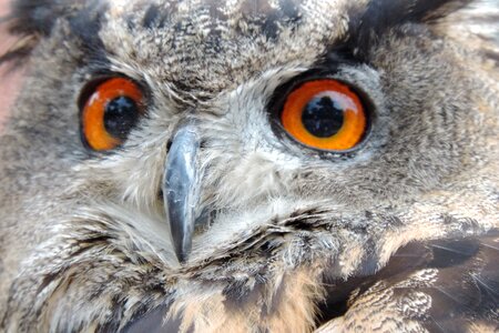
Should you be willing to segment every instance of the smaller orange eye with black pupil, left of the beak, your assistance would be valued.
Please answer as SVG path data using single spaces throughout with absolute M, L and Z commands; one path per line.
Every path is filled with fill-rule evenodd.
M 93 90 L 81 113 L 88 145 L 105 151 L 122 144 L 143 113 L 141 89 L 129 79 L 109 79 Z

